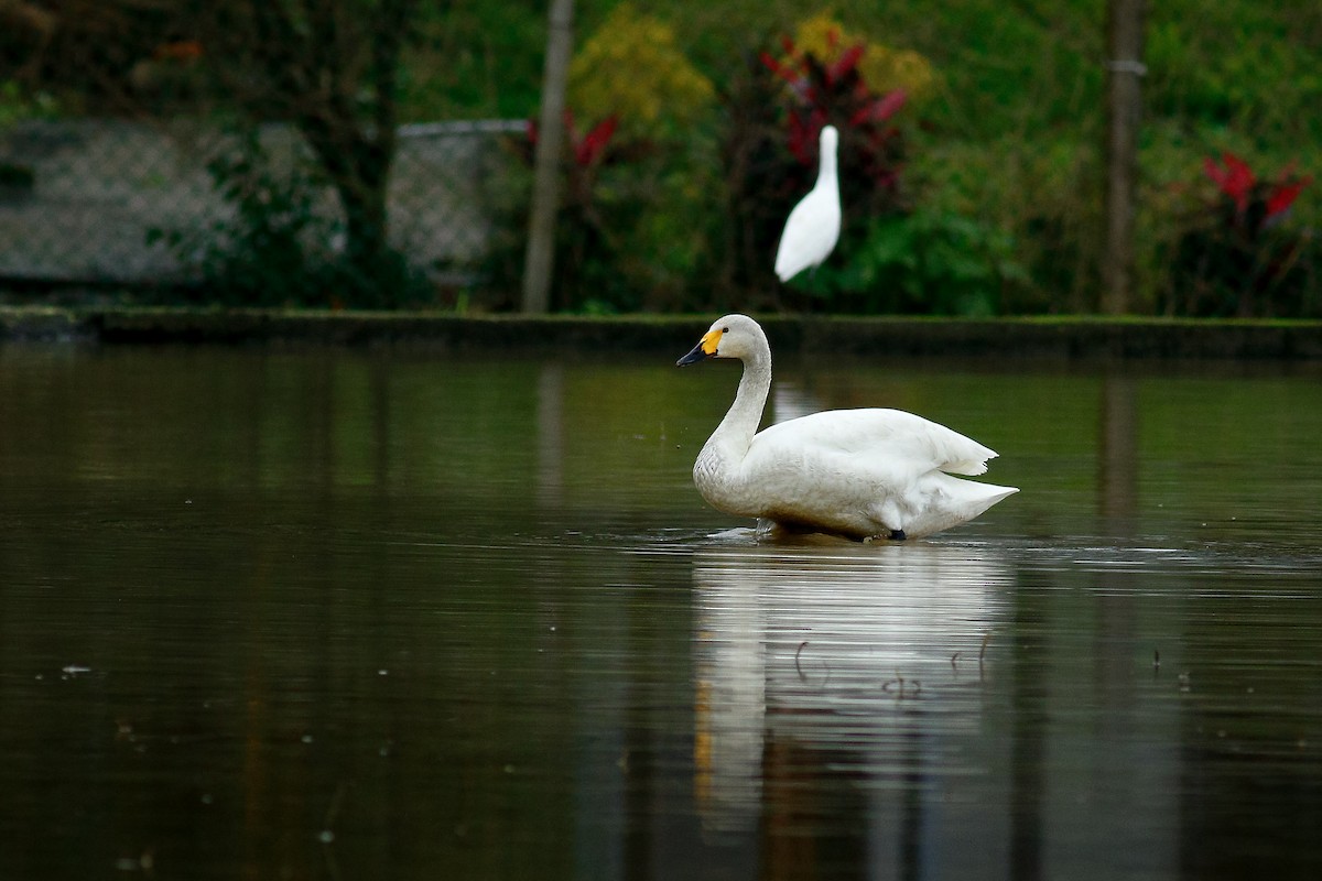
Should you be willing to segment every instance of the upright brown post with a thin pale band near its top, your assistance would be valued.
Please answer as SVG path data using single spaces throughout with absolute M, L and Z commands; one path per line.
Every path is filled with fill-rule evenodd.
M 1107 252 L 1101 264 L 1101 310 L 1133 308 L 1134 190 L 1138 177 L 1140 79 L 1146 0 L 1110 0 L 1107 61 Z

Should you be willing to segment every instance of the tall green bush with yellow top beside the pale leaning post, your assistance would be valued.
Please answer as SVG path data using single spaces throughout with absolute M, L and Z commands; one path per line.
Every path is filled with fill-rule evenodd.
M 580 44 L 570 67 L 570 106 L 617 119 L 619 132 L 612 161 L 591 188 L 576 194 L 570 188 L 568 235 L 582 247 L 571 248 L 567 267 L 578 272 L 561 277 L 568 308 L 683 305 L 709 236 L 719 230 L 711 222 L 719 169 L 702 135 L 710 131 L 714 99 L 713 83 L 683 55 L 673 26 L 632 4 L 616 7 Z

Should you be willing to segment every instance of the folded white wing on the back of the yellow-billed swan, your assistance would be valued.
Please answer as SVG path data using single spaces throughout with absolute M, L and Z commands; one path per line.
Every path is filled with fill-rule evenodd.
M 761 448 L 761 449 L 759 449 Z M 970 437 L 902 409 L 832 409 L 771 425 L 754 439 L 750 456 L 787 450 L 838 452 L 887 460 L 916 473 L 977 476 L 995 452 Z

